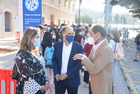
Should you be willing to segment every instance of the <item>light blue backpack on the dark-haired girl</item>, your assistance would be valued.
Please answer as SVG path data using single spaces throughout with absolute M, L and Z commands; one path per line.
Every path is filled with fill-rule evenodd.
M 46 47 L 44 52 L 45 65 L 52 65 L 52 56 L 53 56 L 54 47 Z

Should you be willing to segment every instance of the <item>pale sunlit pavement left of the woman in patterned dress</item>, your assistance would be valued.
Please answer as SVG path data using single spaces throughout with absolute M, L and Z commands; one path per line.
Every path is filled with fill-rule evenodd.
M 12 49 L 18 50 L 19 43 L 15 40 L 15 37 L 10 38 L 0 38 L 0 50 L 1 49 Z M 16 52 L 11 52 L 7 54 L 0 54 L 0 68 L 2 69 L 12 69 L 14 65 L 14 57 Z

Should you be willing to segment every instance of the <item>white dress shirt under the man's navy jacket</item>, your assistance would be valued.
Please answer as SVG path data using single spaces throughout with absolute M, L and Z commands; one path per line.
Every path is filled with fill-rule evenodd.
M 71 42 L 68 46 L 66 46 L 65 42 L 63 42 L 61 74 L 67 73 L 67 67 L 69 57 L 71 54 L 72 44 L 73 42 Z

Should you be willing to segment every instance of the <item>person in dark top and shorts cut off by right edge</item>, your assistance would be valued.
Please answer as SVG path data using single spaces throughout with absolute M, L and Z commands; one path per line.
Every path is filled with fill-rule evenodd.
M 137 45 L 137 50 L 136 50 L 136 53 L 135 53 L 135 56 L 134 56 L 134 60 L 133 61 L 136 61 L 138 62 L 138 60 L 136 59 L 137 58 L 137 54 L 139 53 L 139 56 L 140 56 L 140 34 L 138 34 L 135 38 L 135 43 Z

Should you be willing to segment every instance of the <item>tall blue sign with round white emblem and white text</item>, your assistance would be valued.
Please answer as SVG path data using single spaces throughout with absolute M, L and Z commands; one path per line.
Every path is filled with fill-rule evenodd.
M 42 24 L 42 0 L 23 0 L 23 32 Z

